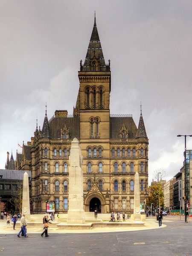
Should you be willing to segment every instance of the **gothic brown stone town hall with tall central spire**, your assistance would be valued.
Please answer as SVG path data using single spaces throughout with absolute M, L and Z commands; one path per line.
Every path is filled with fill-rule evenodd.
M 47 201 L 55 201 L 56 211 L 67 212 L 70 145 L 76 137 L 84 159 L 84 210 L 131 213 L 136 172 L 140 201 L 148 196 L 148 137 L 142 112 L 138 128 L 132 115 L 110 115 L 110 61 L 105 64 L 96 19 L 78 76 L 73 116 L 56 110 L 48 121 L 46 109 L 42 130 L 37 127 L 22 156 L 16 156 L 18 169 L 32 170 L 33 212 L 46 212 Z

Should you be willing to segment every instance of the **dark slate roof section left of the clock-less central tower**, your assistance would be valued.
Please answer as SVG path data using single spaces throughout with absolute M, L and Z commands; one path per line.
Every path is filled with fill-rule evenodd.
M 54 117 L 49 121 L 52 139 L 61 138 L 61 129 L 64 126 L 70 130 L 70 139 L 80 139 L 80 119 L 79 117 Z

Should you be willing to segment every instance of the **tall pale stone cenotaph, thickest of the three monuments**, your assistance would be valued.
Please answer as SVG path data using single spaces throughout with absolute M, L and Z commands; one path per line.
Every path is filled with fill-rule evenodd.
M 70 150 L 69 168 L 69 210 L 67 224 L 83 224 L 85 222 L 83 209 L 83 157 L 79 140 L 73 139 Z

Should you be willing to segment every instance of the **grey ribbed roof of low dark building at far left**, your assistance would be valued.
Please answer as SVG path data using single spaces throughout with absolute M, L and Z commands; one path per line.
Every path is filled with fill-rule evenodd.
M 2 176 L 1 179 L 6 180 L 23 180 L 23 174 L 27 172 L 31 179 L 31 171 L 21 171 L 21 170 L 4 170 L 0 169 L 0 176 Z

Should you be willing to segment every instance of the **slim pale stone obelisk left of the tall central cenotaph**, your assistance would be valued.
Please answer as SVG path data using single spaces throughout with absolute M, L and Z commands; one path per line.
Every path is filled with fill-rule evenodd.
M 29 203 L 29 175 L 27 172 L 23 174 L 23 201 L 22 201 L 22 214 L 25 214 L 26 220 L 31 220 L 30 203 Z

